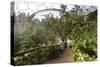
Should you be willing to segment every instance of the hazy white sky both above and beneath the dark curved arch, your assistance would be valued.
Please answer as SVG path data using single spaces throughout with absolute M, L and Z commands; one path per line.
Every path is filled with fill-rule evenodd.
M 18 15 L 19 13 L 32 14 L 38 10 L 47 9 L 47 8 L 56 8 L 60 9 L 60 5 L 58 3 L 40 3 L 40 2 L 32 2 L 32 1 L 15 1 L 15 12 Z M 67 5 L 67 4 L 65 4 Z M 73 5 L 67 5 L 67 11 L 71 10 Z M 36 18 L 43 18 L 43 14 L 53 13 L 54 16 L 59 16 L 59 12 L 55 11 L 45 11 L 37 14 Z

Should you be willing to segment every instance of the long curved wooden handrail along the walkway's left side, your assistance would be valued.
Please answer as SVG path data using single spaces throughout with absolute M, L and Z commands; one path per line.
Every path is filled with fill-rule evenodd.
M 60 46 L 60 45 L 47 45 L 47 46 L 40 46 L 40 47 L 31 48 L 31 49 L 26 50 L 26 51 L 20 51 L 20 52 L 15 53 L 15 54 L 14 54 L 14 57 L 19 56 L 19 55 L 26 54 L 26 53 L 28 53 L 28 52 L 35 51 L 35 50 L 40 49 L 40 48 L 54 47 L 54 46 Z

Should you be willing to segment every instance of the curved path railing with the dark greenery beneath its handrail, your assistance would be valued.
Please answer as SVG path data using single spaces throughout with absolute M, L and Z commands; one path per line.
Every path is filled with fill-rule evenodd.
M 48 59 L 56 58 L 59 56 L 60 45 L 46 45 L 31 48 L 26 51 L 20 51 L 14 54 L 14 64 L 39 64 L 47 61 Z

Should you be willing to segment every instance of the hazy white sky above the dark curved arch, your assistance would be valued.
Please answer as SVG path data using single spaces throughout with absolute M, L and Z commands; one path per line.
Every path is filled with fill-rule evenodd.
M 61 4 L 61 3 L 60 3 Z M 58 3 L 38 3 L 32 1 L 15 1 L 15 11 L 18 12 L 25 12 L 26 14 L 29 12 L 34 13 L 41 9 L 46 8 L 57 8 L 60 9 L 60 4 Z M 65 4 L 67 5 L 67 4 Z M 73 5 L 67 5 L 68 10 L 72 9 Z

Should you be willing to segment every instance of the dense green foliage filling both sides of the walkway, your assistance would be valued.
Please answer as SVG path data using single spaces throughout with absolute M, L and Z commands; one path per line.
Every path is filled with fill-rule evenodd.
M 65 41 L 67 41 L 67 39 L 73 41 L 72 50 L 75 61 L 96 60 L 97 18 L 91 19 L 88 15 L 87 17 L 88 18 L 86 18 L 85 15 L 78 15 L 77 11 L 70 11 L 60 18 L 48 15 L 41 21 L 34 19 L 30 22 L 16 23 L 15 53 L 43 45 L 56 45 L 56 38 L 61 37 Z M 41 51 L 44 51 L 44 53 L 41 53 Z M 23 60 L 15 61 L 16 65 L 40 63 L 38 61 L 40 57 L 38 56 L 42 56 L 44 61 L 47 58 L 52 58 L 52 55 L 59 55 L 60 51 L 58 48 L 48 47 L 40 49 L 40 55 L 38 56 L 33 53 L 31 52 L 28 56 L 22 57 L 24 58 Z

